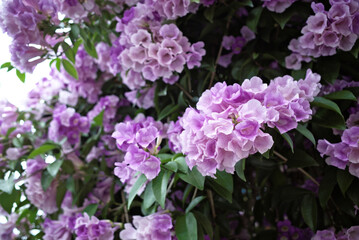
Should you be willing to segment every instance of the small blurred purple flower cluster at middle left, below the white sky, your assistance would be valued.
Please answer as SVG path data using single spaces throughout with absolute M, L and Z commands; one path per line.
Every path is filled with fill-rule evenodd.
M 60 142 L 66 137 L 69 144 L 75 145 L 79 143 L 81 133 L 87 133 L 89 129 L 87 117 L 82 117 L 73 108 L 58 105 L 53 111 L 48 137 L 54 142 Z

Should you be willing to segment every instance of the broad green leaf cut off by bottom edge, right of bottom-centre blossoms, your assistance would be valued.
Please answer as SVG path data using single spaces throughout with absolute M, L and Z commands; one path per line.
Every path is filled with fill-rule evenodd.
M 175 232 L 178 240 L 197 240 L 197 221 L 193 213 L 176 219 Z

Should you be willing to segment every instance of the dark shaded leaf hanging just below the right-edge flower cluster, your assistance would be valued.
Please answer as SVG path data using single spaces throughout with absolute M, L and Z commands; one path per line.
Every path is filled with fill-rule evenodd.
M 322 181 L 320 181 L 319 191 L 318 191 L 318 197 L 319 202 L 322 208 L 324 208 L 327 205 L 327 202 L 334 190 L 335 185 L 337 184 L 336 179 L 336 170 L 332 167 L 329 167 L 329 169 L 326 169 L 324 178 Z

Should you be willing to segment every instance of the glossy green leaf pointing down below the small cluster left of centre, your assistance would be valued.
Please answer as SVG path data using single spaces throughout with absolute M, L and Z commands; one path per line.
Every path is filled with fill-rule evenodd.
M 158 176 L 152 180 L 152 190 L 156 201 L 160 204 L 162 209 L 165 209 L 165 201 L 167 194 L 168 180 L 171 172 L 162 169 Z

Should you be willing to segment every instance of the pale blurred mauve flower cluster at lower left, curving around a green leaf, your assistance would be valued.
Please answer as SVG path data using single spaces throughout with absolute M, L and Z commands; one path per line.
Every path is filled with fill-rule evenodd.
M 26 196 L 32 204 L 46 213 L 54 213 L 58 210 L 56 205 L 57 181 L 53 181 L 50 187 L 44 191 L 41 184 L 41 171 L 47 164 L 41 158 L 26 161 Z

